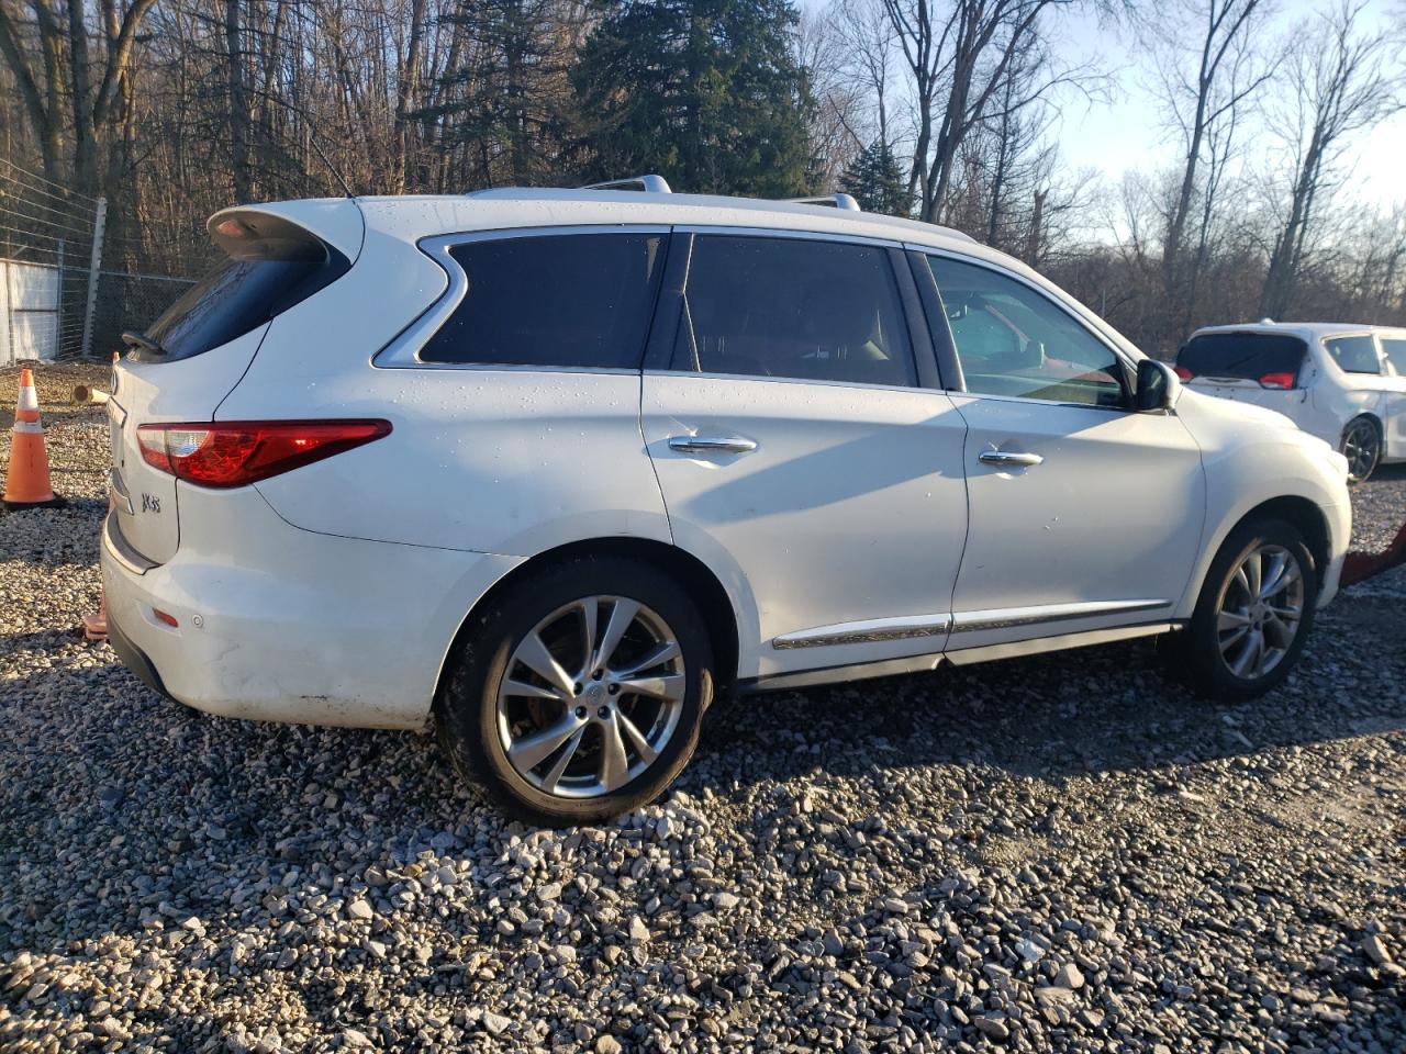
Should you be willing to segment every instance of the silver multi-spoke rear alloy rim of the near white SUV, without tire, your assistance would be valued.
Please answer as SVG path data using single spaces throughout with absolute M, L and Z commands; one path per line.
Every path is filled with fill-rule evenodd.
M 537 790 L 595 798 L 641 776 L 668 746 L 686 690 L 683 653 L 644 604 L 589 596 L 543 618 L 498 689 L 498 735 Z

